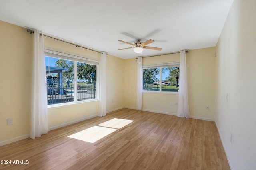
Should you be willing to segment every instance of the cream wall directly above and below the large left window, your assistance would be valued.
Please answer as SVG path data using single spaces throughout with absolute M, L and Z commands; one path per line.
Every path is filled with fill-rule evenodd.
M 44 47 L 46 49 L 63 51 L 81 57 L 98 60 L 100 59 L 100 53 L 76 47 L 75 45 L 54 40 L 46 36 L 44 36 Z M 98 114 L 98 104 L 98 101 L 89 101 L 84 103 L 76 103 L 73 105 L 49 108 L 48 128 L 51 130 L 84 120 L 86 118 L 95 117 Z

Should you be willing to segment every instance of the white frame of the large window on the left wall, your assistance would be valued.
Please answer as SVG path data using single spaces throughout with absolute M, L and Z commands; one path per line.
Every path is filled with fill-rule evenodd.
M 52 104 L 52 105 L 47 105 L 48 108 L 52 107 L 60 107 L 60 106 L 66 106 L 66 105 L 74 105 L 78 103 L 85 103 L 85 102 L 90 102 L 90 101 L 97 101 L 99 100 L 99 81 L 100 81 L 100 76 L 98 73 L 100 73 L 100 61 L 97 59 L 92 59 L 90 57 L 85 57 L 85 56 L 79 56 L 79 55 L 74 55 L 71 53 L 65 53 L 61 52 L 55 49 L 49 49 L 45 48 L 44 49 L 44 57 L 53 57 L 53 58 L 58 58 L 58 59 L 64 59 L 64 60 L 69 60 L 74 62 L 74 91 L 77 90 L 77 62 L 81 63 L 86 63 L 90 65 L 96 65 L 96 98 L 95 99 L 86 99 L 82 101 L 77 101 L 76 100 L 76 93 L 74 93 L 74 101 L 72 102 L 67 102 L 67 103 L 57 103 L 57 104 Z M 46 65 L 46 63 L 45 63 Z M 76 69 L 75 69 L 76 68 Z

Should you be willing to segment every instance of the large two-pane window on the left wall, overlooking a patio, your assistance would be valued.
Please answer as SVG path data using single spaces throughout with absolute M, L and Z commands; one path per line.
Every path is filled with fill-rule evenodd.
M 48 105 L 96 99 L 99 61 L 45 50 Z

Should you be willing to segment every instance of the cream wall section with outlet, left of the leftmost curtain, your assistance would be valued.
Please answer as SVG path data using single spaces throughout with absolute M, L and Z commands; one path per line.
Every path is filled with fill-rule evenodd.
M 32 36 L 0 21 L 0 142 L 30 133 Z M 6 119 L 13 118 L 7 126 Z

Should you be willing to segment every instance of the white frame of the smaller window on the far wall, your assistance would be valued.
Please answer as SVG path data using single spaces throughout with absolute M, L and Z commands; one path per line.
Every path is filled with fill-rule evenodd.
M 159 68 L 160 69 L 160 74 L 159 74 L 159 81 L 162 82 L 162 68 L 164 67 L 180 67 L 180 61 L 176 61 L 176 62 L 171 62 L 171 63 L 159 63 L 159 64 L 149 64 L 149 65 L 142 65 L 142 70 L 143 69 L 150 69 L 150 68 Z M 143 78 L 143 77 L 142 77 Z M 159 86 L 160 89 L 159 91 L 150 91 L 150 90 L 142 90 L 142 93 L 161 93 L 161 94 L 176 94 L 178 95 L 179 92 L 175 92 L 175 91 L 162 91 L 162 85 Z

